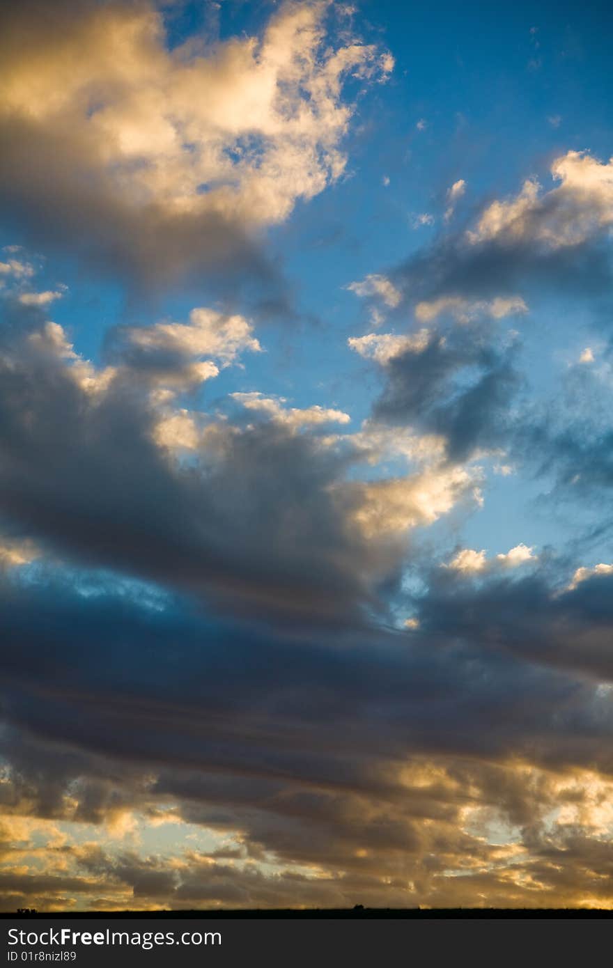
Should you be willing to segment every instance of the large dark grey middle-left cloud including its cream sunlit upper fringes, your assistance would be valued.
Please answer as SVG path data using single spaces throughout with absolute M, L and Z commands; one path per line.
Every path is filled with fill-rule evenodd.
M 57 323 L 4 334 L 0 518 L 60 558 L 169 584 L 222 611 L 360 622 L 365 608 L 384 610 L 379 583 L 397 573 L 404 546 L 352 523 L 383 503 L 402 505 L 393 514 L 403 522 L 434 520 L 462 482 L 447 473 L 358 486 L 349 478 L 363 448 L 321 439 L 323 423 L 349 420 L 336 408 L 251 394 L 234 400 L 272 419 L 246 424 L 175 403 L 194 358 L 170 350 L 230 360 L 253 348 L 242 319 L 199 313 L 122 336 L 125 355 L 98 369 Z M 269 544 L 274 556 L 262 557 Z

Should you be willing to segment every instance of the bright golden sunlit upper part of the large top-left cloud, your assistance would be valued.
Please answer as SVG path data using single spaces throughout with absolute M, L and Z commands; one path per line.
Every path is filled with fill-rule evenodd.
M 66 133 L 135 208 L 279 223 L 344 170 L 352 107 L 343 79 L 381 80 L 393 69 L 375 45 L 335 46 L 326 8 L 286 3 L 261 38 L 232 38 L 209 54 L 196 44 L 169 49 L 163 16 L 146 2 L 83 5 L 36 56 L 15 49 L 3 110 Z

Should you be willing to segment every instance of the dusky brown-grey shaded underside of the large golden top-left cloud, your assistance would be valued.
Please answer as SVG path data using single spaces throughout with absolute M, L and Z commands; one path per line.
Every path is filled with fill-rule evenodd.
M 213 292 L 250 285 L 283 297 L 285 284 L 261 240 L 240 219 L 172 214 L 155 201 L 135 211 L 103 172 L 92 185 L 91 159 L 82 151 L 65 132 L 2 120 L 0 207 L 7 227 L 46 251 L 77 251 L 95 275 L 110 274 L 139 293 L 205 281 Z

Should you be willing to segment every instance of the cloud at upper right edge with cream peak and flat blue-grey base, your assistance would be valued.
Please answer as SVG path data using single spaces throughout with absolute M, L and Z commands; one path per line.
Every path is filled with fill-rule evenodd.
M 593 303 L 605 296 L 611 166 L 568 152 L 553 167 L 558 188 L 543 193 L 528 179 L 518 196 L 485 205 L 473 226 L 437 237 L 392 267 L 403 298 L 417 305 L 445 298 L 528 303 L 545 294 Z

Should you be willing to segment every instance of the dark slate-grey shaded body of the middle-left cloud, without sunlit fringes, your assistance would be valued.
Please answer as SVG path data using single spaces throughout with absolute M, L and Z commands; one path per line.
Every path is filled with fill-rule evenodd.
M 181 463 L 154 443 L 159 413 L 132 371 L 92 396 L 45 343 L 16 347 L 0 391 L 0 515 L 14 527 L 232 610 L 334 620 L 376 604 L 389 549 L 373 552 L 331 491 L 347 457 L 256 422 L 220 425 Z

